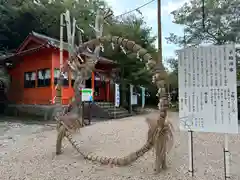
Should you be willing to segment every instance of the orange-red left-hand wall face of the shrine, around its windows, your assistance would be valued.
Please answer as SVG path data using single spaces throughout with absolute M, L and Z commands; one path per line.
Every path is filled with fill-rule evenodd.
M 50 87 L 24 88 L 24 72 L 52 67 L 52 53 L 50 49 L 25 55 L 16 67 L 9 69 L 12 83 L 8 92 L 10 102 L 17 104 L 49 104 L 52 97 Z M 37 84 L 36 84 L 37 86 Z

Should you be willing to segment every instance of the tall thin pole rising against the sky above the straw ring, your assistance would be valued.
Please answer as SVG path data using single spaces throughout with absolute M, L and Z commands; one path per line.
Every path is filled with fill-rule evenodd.
M 162 62 L 162 20 L 161 20 L 161 0 L 157 0 L 158 17 L 158 62 Z

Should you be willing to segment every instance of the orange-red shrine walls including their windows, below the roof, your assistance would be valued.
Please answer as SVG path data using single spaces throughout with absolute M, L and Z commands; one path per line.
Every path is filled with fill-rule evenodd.
M 63 62 L 67 58 L 68 53 L 65 51 Z M 20 62 L 9 70 L 12 80 L 8 91 L 9 101 L 16 104 L 52 104 L 56 95 L 59 59 L 59 50 L 51 48 L 22 56 Z M 111 65 L 98 64 L 96 68 L 107 72 L 111 69 Z M 44 77 L 43 74 L 45 74 Z M 68 104 L 70 98 L 74 96 L 73 83 L 71 74 L 68 74 L 62 89 L 63 104 Z M 114 88 L 110 87 L 110 82 L 105 82 L 101 77 L 98 78 L 95 73 L 92 73 L 87 87 L 95 89 L 94 100 L 96 101 L 113 101 L 114 99 Z

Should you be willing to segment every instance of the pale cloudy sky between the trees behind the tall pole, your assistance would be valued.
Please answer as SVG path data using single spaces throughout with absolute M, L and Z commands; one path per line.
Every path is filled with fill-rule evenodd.
M 129 10 L 135 9 L 150 0 L 107 0 L 108 4 L 112 7 L 114 15 L 120 15 Z M 179 47 L 174 44 L 168 44 L 165 37 L 168 37 L 170 33 L 177 35 L 183 34 L 183 27 L 172 23 L 173 17 L 170 14 L 173 10 L 181 7 L 185 2 L 189 0 L 161 0 L 162 2 L 162 47 L 163 57 L 175 57 L 175 50 Z M 149 27 L 152 27 L 153 35 L 157 35 L 157 1 L 154 1 L 147 6 L 140 9 L 143 14 L 144 20 Z M 157 47 L 157 41 L 156 41 Z

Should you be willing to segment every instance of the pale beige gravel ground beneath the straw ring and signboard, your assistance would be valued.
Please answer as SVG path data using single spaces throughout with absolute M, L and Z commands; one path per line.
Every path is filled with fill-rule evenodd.
M 154 113 L 151 113 L 154 115 Z M 146 115 L 144 115 L 146 116 Z M 75 135 L 83 151 L 124 156 L 143 145 L 147 125 L 144 116 L 95 123 Z M 150 115 L 148 115 L 150 116 Z M 177 126 L 177 113 L 169 118 Z M 177 128 L 176 128 L 177 129 Z M 127 167 L 109 167 L 85 161 L 65 140 L 64 152 L 55 156 L 56 131 L 50 126 L 0 123 L 0 179 L 2 180 L 110 180 L 192 179 L 188 171 L 187 133 L 175 132 L 175 146 L 166 171 L 154 175 L 153 151 Z M 195 177 L 223 180 L 223 135 L 194 133 Z M 229 136 L 231 179 L 240 179 L 240 136 Z

